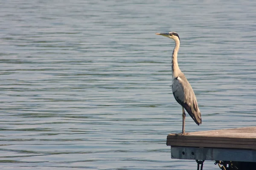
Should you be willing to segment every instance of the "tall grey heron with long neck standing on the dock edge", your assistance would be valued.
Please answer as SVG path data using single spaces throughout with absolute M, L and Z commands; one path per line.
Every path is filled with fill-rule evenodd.
M 168 33 L 156 33 L 157 35 L 163 35 L 164 37 L 171 38 L 175 41 L 175 48 L 172 52 L 172 93 L 176 101 L 182 106 L 182 133 L 179 135 L 185 134 L 185 118 L 186 109 L 189 116 L 195 121 L 197 125 L 202 124 L 201 112 L 198 108 L 198 103 L 195 97 L 195 93 L 186 79 L 185 75 L 180 71 L 177 54 L 180 48 L 180 37 L 176 32 Z

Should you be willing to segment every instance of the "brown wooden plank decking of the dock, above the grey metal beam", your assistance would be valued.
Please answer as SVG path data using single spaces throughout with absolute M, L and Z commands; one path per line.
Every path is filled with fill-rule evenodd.
M 166 144 L 180 147 L 209 147 L 256 150 L 256 126 L 169 134 Z

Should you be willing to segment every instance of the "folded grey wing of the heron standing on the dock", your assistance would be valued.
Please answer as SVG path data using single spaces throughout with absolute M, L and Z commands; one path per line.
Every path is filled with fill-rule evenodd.
M 172 82 L 172 93 L 176 101 L 186 109 L 197 125 L 202 124 L 195 93 L 185 76 L 176 77 Z

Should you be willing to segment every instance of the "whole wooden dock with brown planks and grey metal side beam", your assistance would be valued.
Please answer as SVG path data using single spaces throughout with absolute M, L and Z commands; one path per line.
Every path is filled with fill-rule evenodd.
M 169 134 L 166 145 L 173 159 L 248 162 L 256 169 L 256 126 Z

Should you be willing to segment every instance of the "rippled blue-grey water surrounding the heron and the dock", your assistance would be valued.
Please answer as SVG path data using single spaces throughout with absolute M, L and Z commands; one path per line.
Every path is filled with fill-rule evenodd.
M 202 113 L 186 132 L 256 125 L 256 1 L 0 1 L 0 168 L 195 170 L 171 55 Z M 206 161 L 205 169 L 218 169 Z

